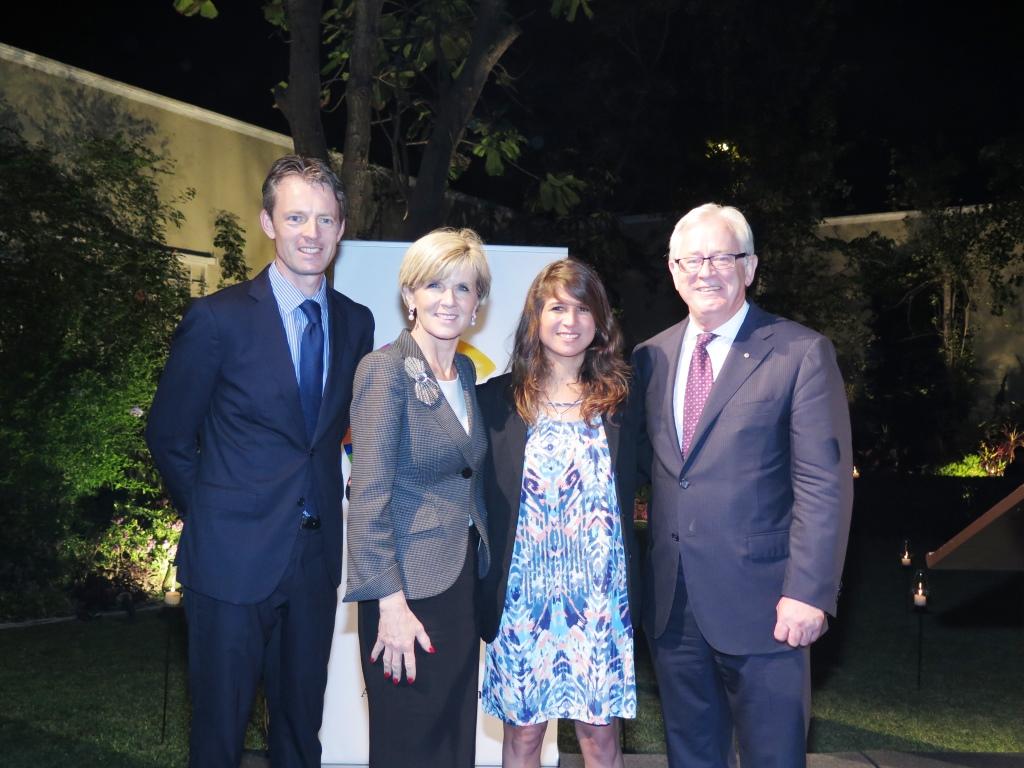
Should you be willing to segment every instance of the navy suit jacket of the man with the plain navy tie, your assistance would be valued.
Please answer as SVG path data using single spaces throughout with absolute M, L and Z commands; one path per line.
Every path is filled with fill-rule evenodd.
M 145 437 L 184 519 L 178 580 L 196 592 L 238 604 L 268 597 L 311 486 L 340 582 L 341 440 L 374 319 L 337 291 L 328 302 L 330 368 L 312 440 L 266 269 L 197 299 L 174 334 Z

